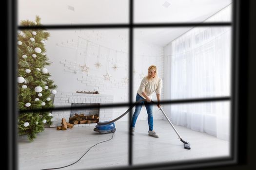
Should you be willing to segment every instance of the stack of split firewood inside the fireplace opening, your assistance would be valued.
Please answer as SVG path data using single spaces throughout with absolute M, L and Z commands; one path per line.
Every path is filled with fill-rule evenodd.
M 69 122 L 71 124 L 97 123 L 98 119 L 98 114 L 84 116 L 84 114 L 75 113 L 75 116 L 69 118 Z

